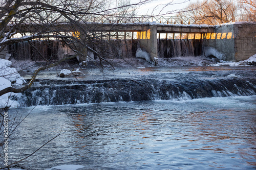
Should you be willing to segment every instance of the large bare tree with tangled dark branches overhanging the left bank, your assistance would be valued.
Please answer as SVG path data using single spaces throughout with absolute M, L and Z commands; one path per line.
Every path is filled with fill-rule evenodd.
M 88 50 L 97 55 L 101 67 L 104 67 L 104 64 L 111 65 L 108 60 L 111 55 L 101 52 L 104 51 L 104 45 L 111 43 L 114 23 L 124 19 L 129 21 L 134 15 L 135 7 L 150 1 L 140 0 L 131 4 L 129 0 L 115 3 L 112 0 L 1 0 L 0 53 L 10 44 L 28 42 L 46 64 L 36 69 L 27 85 L 19 89 L 3 89 L 0 96 L 7 92 L 22 92 L 28 89 L 40 70 L 72 58 L 87 60 Z M 108 31 L 104 31 L 106 26 Z M 35 40 L 58 41 L 62 46 L 67 46 L 72 55 L 63 53 L 62 58 L 46 57 L 34 44 Z M 102 41 L 104 45 L 96 41 Z

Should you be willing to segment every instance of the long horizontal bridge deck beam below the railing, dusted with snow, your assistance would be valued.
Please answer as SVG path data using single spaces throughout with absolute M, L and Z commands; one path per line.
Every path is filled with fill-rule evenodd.
M 136 32 L 145 31 L 150 27 L 156 25 L 157 33 L 214 33 L 214 26 L 207 25 L 167 25 L 156 24 L 154 22 L 148 23 L 83 23 L 80 28 L 74 27 L 70 23 L 63 23 L 59 25 L 33 25 L 24 24 L 18 27 L 17 32 L 30 32 L 36 33 L 38 30 L 44 30 L 45 32 L 51 30 L 63 31 L 63 32 L 75 32 L 83 29 L 88 32 Z M 13 26 L 9 26 L 6 32 L 9 32 Z

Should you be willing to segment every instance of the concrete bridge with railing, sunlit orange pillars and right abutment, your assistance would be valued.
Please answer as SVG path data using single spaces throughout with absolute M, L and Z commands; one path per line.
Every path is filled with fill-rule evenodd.
M 110 21 L 111 22 L 111 21 Z M 126 33 L 132 33 L 132 39 L 136 32 L 136 38 L 140 47 L 148 52 L 151 60 L 158 57 L 157 39 L 161 34 L 179 34 L 179 39 L 201 39 L 206 47 L 215 48 L 218 52 L 223 54 L 223 60 L 226 61 L 240 61 L 248 59 L 250 56 L 256 54 L 256 22 L 234 22 L 227 23 L 220 26 L 209 25 L 184 25 L 174 24 L 172 22 L 162 23 L 161 20 L 156 22 L 133 22 L 133 23 L 84 23 L 80 25 L 81 28 L 90 29 L 93 32 L 123 32 L 126 39 Z M 172 24 L 170 24 L 172 23 Z M 184 22 L 183 22 L 184 23 Z M 189 23 L 189 22 L 188 22 Z M 10 26 L 11 29 L 11 26 Z M 21 25 L 18 32 L 36 32 L 33 24 Z M 48 30 L 58 30 L 63 32 L 75 32 L 77 29 L 70 23 L 62 23 L 61 25 L 52 25 L 47 27 Z M 47 29 L 45 31 L 47 31 Z M 9 31 L 8 29 L 6 31 Z M 199 38 L 198 38 L 199 37 Z M 110 39 L 111 37 L 109 37 Z M 113 39 L 113 37 L 112 37 Z

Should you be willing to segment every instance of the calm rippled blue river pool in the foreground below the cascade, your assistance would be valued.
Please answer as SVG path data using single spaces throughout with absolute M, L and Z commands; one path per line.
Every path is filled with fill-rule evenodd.
M 19 127 L 10 159 L 30 154 L 61 131 L 23 165 L 29 169 L 61 164 L 86 169 L 253 169 L 255 101 L 256 96 L 250 96 L 39 106 Z

